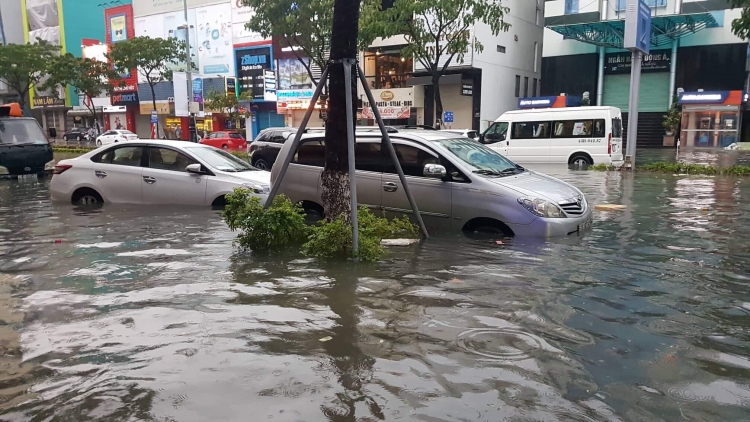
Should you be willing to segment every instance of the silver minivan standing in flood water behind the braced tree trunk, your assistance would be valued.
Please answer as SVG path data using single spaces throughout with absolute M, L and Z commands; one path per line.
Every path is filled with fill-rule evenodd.
M 591 207 L 580 190 L 476 141 L 438 131 L 402 130 L 390 136 L 429 229 L 547 237 L 577 233 L 591 223 Z M 289 154 L 292 143 L 287 140 L 279 158 Z M 358 131 L 355 153 L 360 205 L 389 217 L 412 214 L 380 134 Z M 324 136 L 303 135 L 279 193 L 306 210 L 322 212 L 324 160 Z M 271 170 L 271 183 L 280 167 Z

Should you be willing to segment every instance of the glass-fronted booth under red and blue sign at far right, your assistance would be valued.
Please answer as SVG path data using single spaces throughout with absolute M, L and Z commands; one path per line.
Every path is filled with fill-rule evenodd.
M 682 108 L 683 147 L 724 148 L 740 140 L 740 107 L 686 105 Z

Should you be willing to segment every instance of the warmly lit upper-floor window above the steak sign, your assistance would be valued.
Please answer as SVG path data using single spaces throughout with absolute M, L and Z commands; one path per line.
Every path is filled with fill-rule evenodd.
M 401 56 L 401 47 L 365 52 L 365 79 L 372 89 L 407 88 L 414 60 Z

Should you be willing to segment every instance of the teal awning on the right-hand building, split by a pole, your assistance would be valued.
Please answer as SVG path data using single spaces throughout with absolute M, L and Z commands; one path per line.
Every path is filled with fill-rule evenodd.
M 719 25 L 711 12 L 653 16 L 651 18 L 651 47 L 671 45 L 678 38 L 717 26 Z M 602 47 L 622 48 L 625 20 L 549 25 L 547 28 L 566 39 Z

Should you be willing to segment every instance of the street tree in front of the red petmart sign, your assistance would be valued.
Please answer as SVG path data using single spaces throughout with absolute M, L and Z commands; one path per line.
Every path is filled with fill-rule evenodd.
M 108 63 L 88 58 L 75 57 L 66 53 L 50 64 L 49 84 L 72 86 L 85 97 L 83 103 L 94 117 L 94 123 L 99 129 L 99 118 L 94 98 L 109 91 L 113 86 L 119 86 L 122 81 Z

